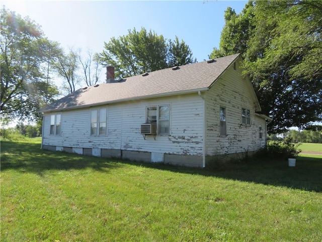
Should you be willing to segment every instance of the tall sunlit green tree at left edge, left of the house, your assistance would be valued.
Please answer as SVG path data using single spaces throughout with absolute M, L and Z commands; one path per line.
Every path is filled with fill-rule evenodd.
M 55 48 L 39 25 L 15 12 L 1 9 L 1 114 L 3 117 L 39 117 L 38 108 L 55 98 L 57 88 L 47 82 L 45 53 Z

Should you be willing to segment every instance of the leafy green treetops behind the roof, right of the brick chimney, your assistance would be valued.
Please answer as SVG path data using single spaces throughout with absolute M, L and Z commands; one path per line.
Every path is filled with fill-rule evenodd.
M 111 38 L 100 54 L 102 65 L 115 67 L 116 77 L 128 77 L 167 67 L 196 62 L 188 45 L 178 37 L 173 42 L 154 31 L 141 28 L 127 35 Z

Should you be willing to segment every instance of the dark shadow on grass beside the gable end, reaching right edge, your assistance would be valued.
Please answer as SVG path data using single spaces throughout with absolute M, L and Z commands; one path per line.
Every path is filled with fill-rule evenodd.
M 163 164 L 141 164 L 173 172 L 200 174 L 303 191 L 322 192 L 322 159 L 297 157 L 296 166 L 287 160 L 252 160 L 231 162 L 212 169 L 176 167 Z

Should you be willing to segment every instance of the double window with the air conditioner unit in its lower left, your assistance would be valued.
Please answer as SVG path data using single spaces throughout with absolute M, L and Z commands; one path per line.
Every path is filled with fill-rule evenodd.
M 170 134 L 170 105 L 156 105 L 146 108 L 146 123 L 156 124 L 158 135 Z

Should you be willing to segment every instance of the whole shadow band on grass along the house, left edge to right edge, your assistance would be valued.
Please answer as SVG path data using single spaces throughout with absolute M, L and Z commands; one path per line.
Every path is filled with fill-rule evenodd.
M 322 159 L 297 157 L 296 166 L 287 160 L 249 160 L 227 163 L 213 169 L 178 167 L 166 164 L 112 160 L 40 149 L 40 144 L 1 142 L 1 170 L 42 174 L 46 170 L 93 168 L 102 172 L 123 164 L 143 166 L 186 174 L 221 177 L 270 186 L 282 186 L 305 191 L 322 192 Z

